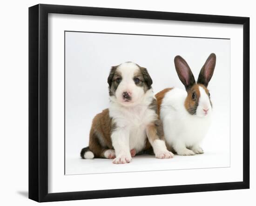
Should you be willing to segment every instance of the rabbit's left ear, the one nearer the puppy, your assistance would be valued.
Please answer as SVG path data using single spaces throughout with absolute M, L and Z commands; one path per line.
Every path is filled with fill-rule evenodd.
M 175 56 L 174 64 L 182 84 L 188 91 L 195 84 L 195 78 L 188 63 L 181 56 Z

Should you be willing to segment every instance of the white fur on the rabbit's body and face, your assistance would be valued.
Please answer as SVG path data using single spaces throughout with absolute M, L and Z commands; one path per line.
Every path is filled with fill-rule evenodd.
M 165 139 L 179 155 L 203 153 L 199 144 L 209 129 L 212 108 L 209 97 L 201 86 L 199 86 L 199 91 L 197 115 L 191 115 L 186 110 L 184 102 L 187 92 L 183 89 L 173 88 L 165 94 L 162 100 L 160 117 L 163 122 Z M 204 106 L 209 108 L 209 112 L 206 116 L 201 116 Z

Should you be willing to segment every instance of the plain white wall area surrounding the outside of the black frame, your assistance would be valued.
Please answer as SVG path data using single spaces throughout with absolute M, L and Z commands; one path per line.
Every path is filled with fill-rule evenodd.
M 214 3 L 206 3 L 205 1 L 176 1 L 167 3 L 164 1 L 111 1 L 103 0 L 87 1 L 86 4 L 81 1 L 65 1 L 65 0 L 42 0 L 40 3 L 66 4 L 78 6 L 98 6 L 98 7 L 116 7 L 141 10 L 158 10 L 169 12 L 184 12 L 184 13 L 205 13 L 219 15 L 236 15 L 251 17 L 251 33 L 255 33 L 255 18 L 254 5 L 252 1 L 244 0 L 236 3 L 234 1 L 224 2 L 216 0 Z M 22 204 L 35 205 L 32 200 L 27 199 L 27 166 L 28 166 L 28 71 L 27 71 L 27 53 L 28 53 L 28 9 L 39 1 L 9 1 L 1 6 L 4 8 L 1 12 L 2 30 L 0 33 L 0 52 L 1 52 L 1 172 L 0 172 L 0 193 L 1 203 L 4 205 Z M 230 8 L 231 7 L 231 8 Z M 252 38 L 251 38 L 252 40 Z M 252 58 L 256 54 L 253 50 L 256 48 L 255 42 L 251 41 Z M 253 64 L 251 59 L 251 68 Z M 255 74 L 254 79 L 255 79 Z M 252 76 L 251 76 L 252 77 Z M 252 81 L 251 81 L 252 82 Z M 255 87 L 255 84 L 253 85 Z M 254 89 L 255 90 L 255 89 Z M 253 91 L 254 91 L 253 90 Z M 255 94 L 252 97 L 255 102 Z M 255 109 L 252 108 L 255 117 Z M 253 117 L 253 120 L 254 120 Z M 253 134 L 255 130 L 252 131 Z M 253 136 L 253 135 L 251 135 Z M 251 148 L 255 146 L 255 141 L 251 140 Z M 255 151 L 251 151 L 251 159 L 256 156 Z M 255 171 L 255 163 L 251 160 L 251 173 Z M 115 198 L 115 199 L 97 199 L 97 200 L 80 200 L 72 202 L 56 202 L 46 203 L 46 205 L 131 205 L 147 203 L 147 205 L 155 205 L 161 202 L 168 202 L 179 205 L 205 205 L 216 204 L 232 204 L 253 205 L 255 202 L 253 194 L 255 189 L 255 178 L 251 177 L 250 190 L 237 191 L 219 191 L 206 193 L 189 193 L 189 194 L 170 194 L 146 197 L 130 197 L 130 198 Z M 209 201 L 210 199 L 210 201 Z M 124 201 L 125 200 L 125 201 Z

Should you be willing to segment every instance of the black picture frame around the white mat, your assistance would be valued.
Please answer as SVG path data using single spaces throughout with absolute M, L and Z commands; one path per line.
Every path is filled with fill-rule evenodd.
M 243 25 L 243 181 L 48 193 L 48 13 Z M 38 4 L 29 7 L 29 199 L 98 199 L 249 188 L 249 18 Z

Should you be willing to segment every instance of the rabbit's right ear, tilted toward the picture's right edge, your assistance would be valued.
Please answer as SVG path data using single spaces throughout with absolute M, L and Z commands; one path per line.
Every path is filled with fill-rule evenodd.
M 214 68 L 216 65 L 216 55 L 215 53 L 211 53 L 202 66 L 202 69 L 199 73 L 197 83 L 198 84 L 203 84 L 204 86 L 208 86 L 209 81 L 212 78 Z

